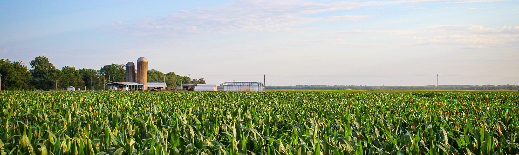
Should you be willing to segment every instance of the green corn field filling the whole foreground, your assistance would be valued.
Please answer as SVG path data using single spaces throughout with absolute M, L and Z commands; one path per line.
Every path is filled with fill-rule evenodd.
M 517 154 L 514 92 L 1 91 L 5 154 Z

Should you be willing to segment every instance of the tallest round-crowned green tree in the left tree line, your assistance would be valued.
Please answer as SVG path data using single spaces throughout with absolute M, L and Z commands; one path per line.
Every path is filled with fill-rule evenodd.
M 36 89 L 51 90 L 54 89 L 57 83 L 60 70 L 56 69 L 46 56 L 38 56 L 31 60 L 32 74 L 31 83 Z

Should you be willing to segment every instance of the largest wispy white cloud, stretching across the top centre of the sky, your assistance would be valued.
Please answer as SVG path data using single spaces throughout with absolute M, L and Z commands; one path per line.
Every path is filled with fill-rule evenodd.
M 293 33 L 302 29 L 292 26 L 319 21 L 361 20 L 370 15 L 342 15 L 318 18 L 307 14 L 348 10 L 367 6 L 420 2 L 475 3 L 502 0 L 399 0 L 399 1 L 343 1 L 316 3 L 301 1 L 233 1 L 224 6 L 184 10 L 160 19 L 116 22 L 113 28 L 134 36 L 179 37 L 233 32 Z

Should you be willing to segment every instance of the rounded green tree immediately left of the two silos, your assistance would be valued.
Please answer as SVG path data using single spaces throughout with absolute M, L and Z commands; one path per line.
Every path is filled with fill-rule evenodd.
M 106 79 L 109 79 L 106 83 L 126 81 L 126 65 L 105 65 L 98 72 Z

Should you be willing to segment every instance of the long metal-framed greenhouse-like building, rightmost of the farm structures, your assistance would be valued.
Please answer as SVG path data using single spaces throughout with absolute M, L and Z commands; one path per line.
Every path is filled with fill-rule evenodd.
M 261 82 L 222 82 L 224 91 L 265 91 Z

